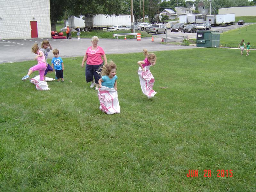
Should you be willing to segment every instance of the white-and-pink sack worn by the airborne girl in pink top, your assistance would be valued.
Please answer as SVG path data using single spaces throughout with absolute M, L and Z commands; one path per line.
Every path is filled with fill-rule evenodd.
M 155 79 L 149 70 L 150 66 L 145 66 L 145 71 L 142 71 L 139 67 L 138 75 L 140 78 L 140 87 L 144 95 L 149 98 L 155 96 L 156 92 L 153 90 Z

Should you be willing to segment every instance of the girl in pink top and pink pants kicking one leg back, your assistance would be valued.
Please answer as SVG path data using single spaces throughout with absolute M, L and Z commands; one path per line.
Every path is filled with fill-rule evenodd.
M 30 75 L 33 73 L 33 71 L 39 71 L 39 76 L 40 76 L 40 81 L 45 81 L 44 80 L 44 71 L 47 68 L 47 63 L 45 62 L 45 57 L 44 53 L 40 51 L 38 44 L 34 44 L 32 46 L 32 52 L 37 54 L 35 57 L 35 60 L 37 60 L 38 64 L 31 67 L 28 70 L 28 74 L 24 77 L 22 77 L 22 81 L 26 81 L 27 79 L 30 79 Z

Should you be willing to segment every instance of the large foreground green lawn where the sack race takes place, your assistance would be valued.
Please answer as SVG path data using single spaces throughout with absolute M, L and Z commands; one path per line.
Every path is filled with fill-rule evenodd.
M 254 52 L 155 53 L 152 99 L 137 75 L 142 52 L 107 55 L 117 64 L 115 115 L 99 110 L 82 57 L 63 59 L 65 82 L 50 91 L 21 81 L 35 61 L 1 64 L 0 191 L 256 191 Z M 191 169 L 198 177 L 187 178 Z

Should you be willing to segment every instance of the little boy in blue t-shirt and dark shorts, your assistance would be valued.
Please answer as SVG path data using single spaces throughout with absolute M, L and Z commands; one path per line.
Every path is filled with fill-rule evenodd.
M 60 52 L 58 49 L 54 49 L 52 53 L 54 55 L 54 57 L 52 58 L 52 68 L 54 68 L 55 70 L 57 81 L 60 82 L 60 78 L 61 78 L 61 81 L 64 82 L 64 77 L 63 77 L 64 64 L 61 57 L 59 57 Z

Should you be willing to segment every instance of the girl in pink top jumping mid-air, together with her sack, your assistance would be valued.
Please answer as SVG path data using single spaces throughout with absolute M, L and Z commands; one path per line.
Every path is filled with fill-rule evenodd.
M 156 64 L 156 55 L 154 53 L 148 53 L 147 49 L 143 49 L 143 52 L 146 58 L 143 61 L 138 61 L 138 75 L 140 78 L 141 90 L 144 95 L 150 99 L 156 94 L 153 90 L 155 79 L 149 70 L 150 66 L 154 66 Z

